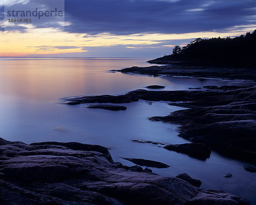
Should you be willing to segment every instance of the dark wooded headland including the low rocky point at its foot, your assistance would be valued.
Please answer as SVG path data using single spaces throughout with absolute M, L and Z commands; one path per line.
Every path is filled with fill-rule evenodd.
M 236 38 L 197 38 L 172 55 L 151 61 L 163 66 L 130 67 L 114 70 L 143 75 L 256 80 L 256 30 Z

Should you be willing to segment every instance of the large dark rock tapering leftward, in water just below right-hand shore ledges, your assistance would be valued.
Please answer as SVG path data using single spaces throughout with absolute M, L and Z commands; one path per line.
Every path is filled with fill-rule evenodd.
M 200 143 L 168 144 L 163 148 L 202 160 L 209 158 L 211 155 L 210 148 L 206 144 Z

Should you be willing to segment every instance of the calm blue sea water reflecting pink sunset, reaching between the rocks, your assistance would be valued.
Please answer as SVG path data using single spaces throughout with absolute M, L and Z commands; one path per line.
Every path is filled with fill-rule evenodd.
M 84 105 L 59 104 L 61 98 L 77 95 L 119 95 L 148 85 L 165 90 L 187 90 L 205 85 L 247 85 L 252 82 L 199 78 L 150 77 L 112 73 L 111 69 L 148 66 L 146 58 L 0 58 L 0 136 L 10 141 L 78 141 L 111 148 L 115 161 L 134 165 L 120 157 L 160 161 L 169 168 L 152 168 L 155 173 L 176 176 L 188 173 L 200 179 L 201 188 L 236 193 L 256 204 L 256 173 L 244 170 L 246 162 L 212 152 L 206 161 L 191 158 L 132 139 L 169 144 L 186 143 L 178 137 L 177 124 L 152 122 L 184 108 L 165 102 L 123 104 L 125 111 L 89 109 Z M 225 173 L 233 177 L 224 178 Z

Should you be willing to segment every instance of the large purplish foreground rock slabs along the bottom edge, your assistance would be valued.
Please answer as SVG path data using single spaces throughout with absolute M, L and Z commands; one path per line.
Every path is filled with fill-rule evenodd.
M 99 145 L 0 138 L 0 151 L 3 205 L 250 205 L 235 194 L 196 188 L 200 180 L 186 173 L 164 177 L 113 162 Z

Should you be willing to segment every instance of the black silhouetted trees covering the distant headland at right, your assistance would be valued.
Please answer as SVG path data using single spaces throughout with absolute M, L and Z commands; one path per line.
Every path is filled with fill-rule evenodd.
M 234 66 L 256 68 L 256 30 L 235 38 L 196 38 L 180 49 L 175 46 L 172 55 L 157 61 L 187 61 L 209 66 Z

